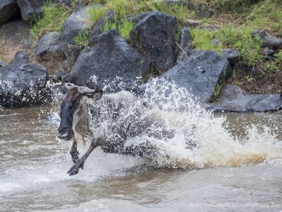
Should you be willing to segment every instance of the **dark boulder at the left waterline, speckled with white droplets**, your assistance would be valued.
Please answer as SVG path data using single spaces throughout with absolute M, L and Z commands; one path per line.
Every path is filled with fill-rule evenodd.
M 18 52 L 11 64 L 0 68 L 0 107 L 26 107 L 51 100 L 44 66 L 28 64 L 27 52 Z

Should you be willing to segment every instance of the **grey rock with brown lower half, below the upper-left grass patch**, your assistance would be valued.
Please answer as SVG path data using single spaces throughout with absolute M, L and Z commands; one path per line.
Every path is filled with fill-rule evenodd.
M 59 46 L 60 33 L 52 32 L 44 35 L 35 45 L 33 56 L 35 60 L 47 68 L 49 74 L 62 69 L 65 54 Z

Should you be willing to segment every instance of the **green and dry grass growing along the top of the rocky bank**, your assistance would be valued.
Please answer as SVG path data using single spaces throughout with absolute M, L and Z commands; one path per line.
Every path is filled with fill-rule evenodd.
M 261 54 L 262 40 L 252 36 L 252 30 L 265 29 L 271 35 L 282 37 L 282 4 L 281 0 L 190 0 L 189 2 L 207 6 L 214 15 L 212 18 L 199 18 L 199 11 L 189 11 L 183 4 L 165 4 L 160 0 L 73 0 L 73 6 L 66 7 L 49 1 L 42 16 L 35 18 L 31 29 L 32 37 L 38 40 L 49 31 L 61 31 L 61 25 L 75 11 L 78 1 L 92 4 L 89 10 L 90 23 L 94 26 L 109 10 L 116 15 L 113 21 L 105 20 L 105 32 L 117 28 L 121 36 L 128 39 L 133 28 L 130 16 L 137 13 L 159 10 L 176 16 L 179 29 L 188 26 L 188 19 L 200 20 L 200 23 L 219 25 L 219 30 L 208 28 L 191 28 L 193 45 L 196 49 L 212 49 L 221 53 L 223 48 L 238 49 L 243 63 L 250 67 L 259 67 L 261 75 L 276 73 L 282 70 L 282 50 L 274 54 L 275 59 L 265 61 Z M 189 26 L 188 26 L 189 27 Z M 91 28 L 83 30 L 75 37 L 75 43 L 81 49 L 87 45 Z M 176 35 L 178 35 L 176 32 Z M 213 42 L 216 39 L 219 42 Z M 235 76 L 235 72 L 233 76 Z M 260 76 L 261 77 L 261 76 Z

